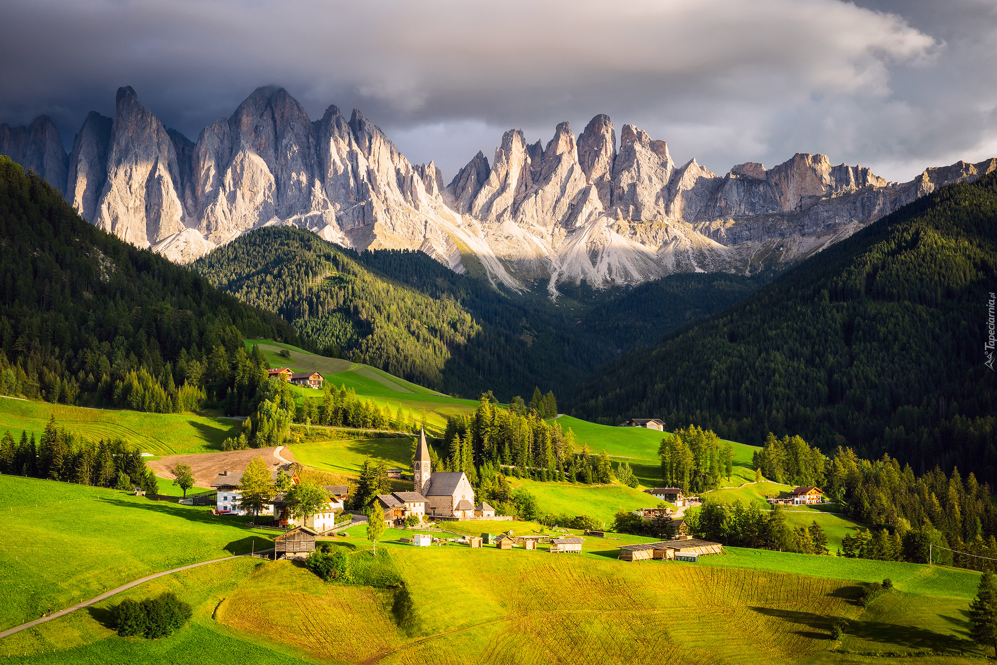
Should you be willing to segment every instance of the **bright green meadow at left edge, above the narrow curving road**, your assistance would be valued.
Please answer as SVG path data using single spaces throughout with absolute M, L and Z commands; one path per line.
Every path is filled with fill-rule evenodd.
M 0 540 L 0 628 L 153 572 L 219 558 L 233 548 L 249 551 L 253 536 L 257 548 L 270 541 L 272 531 L 244 528 L 245 517 L 219 518 L 208 511 L 0 476 L 0 527 L 8 534 Z

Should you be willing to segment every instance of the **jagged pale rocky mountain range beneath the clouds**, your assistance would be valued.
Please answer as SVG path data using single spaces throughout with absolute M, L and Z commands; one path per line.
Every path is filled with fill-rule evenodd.
M 521 290 L 596 287 L 676 272 L 751 274 L 805 258 L 991 159 L 887 182 L 863 166 L 798 154 L 717 175 L 676 165 L 663 141 L 607 116 L 546 146 L 518 130 L 450 184 L 411 164 L 359 111 L 312 122 L 286 91 L 254 91 L 195 143 L 166 129 L 132 88 L 115 118 L 91 112 L 69 155 L 52 121 L 0 125 L 0 154 L 34 169 L 86 219 L 177 262 L 239 234 L 297 224 L 358 250 L 419 249 L 458 272 L 483 267 Z

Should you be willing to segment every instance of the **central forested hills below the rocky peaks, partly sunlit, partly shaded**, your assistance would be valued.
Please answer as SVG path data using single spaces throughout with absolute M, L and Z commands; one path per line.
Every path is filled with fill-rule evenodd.
M 357 253 L 293 226 L 247 233 L 191 267 L 279 313 L 328 353 L 446 393 L 494 390 L 503 399 L 580 380 L 620 350 L 649 344 L 756 286 L 731 275 L 676 275 L 674 283 L 630 291 L 576 289 L 580 300 L 553 304 L 545 294 L 506 295 L 422 252 Z M 627 332 L 618 315 L 631 310 Z

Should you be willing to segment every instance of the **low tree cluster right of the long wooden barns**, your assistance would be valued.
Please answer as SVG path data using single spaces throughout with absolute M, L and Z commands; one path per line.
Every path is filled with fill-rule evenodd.
M 731 505 L 707 500 L 699 510 L 686 513 L 690 532 L 706 540 L 737 547 L 777 549 L 802 554 L 827 554 L 828 536 L 817 521 L 791 526 L 786 510 L 773 505 L 768 513 L 755 502 L 746 507 L 740 499 Z

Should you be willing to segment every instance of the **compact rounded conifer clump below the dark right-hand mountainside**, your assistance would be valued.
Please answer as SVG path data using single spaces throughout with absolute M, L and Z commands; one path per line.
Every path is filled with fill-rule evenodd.
M 690 425 L 664 437 L 658 447 L 661 478 L 669 487 L 684 492 L 706 492 L 730 478 L 734 468 L 734 447 L 721 444 L 710 430 Z

